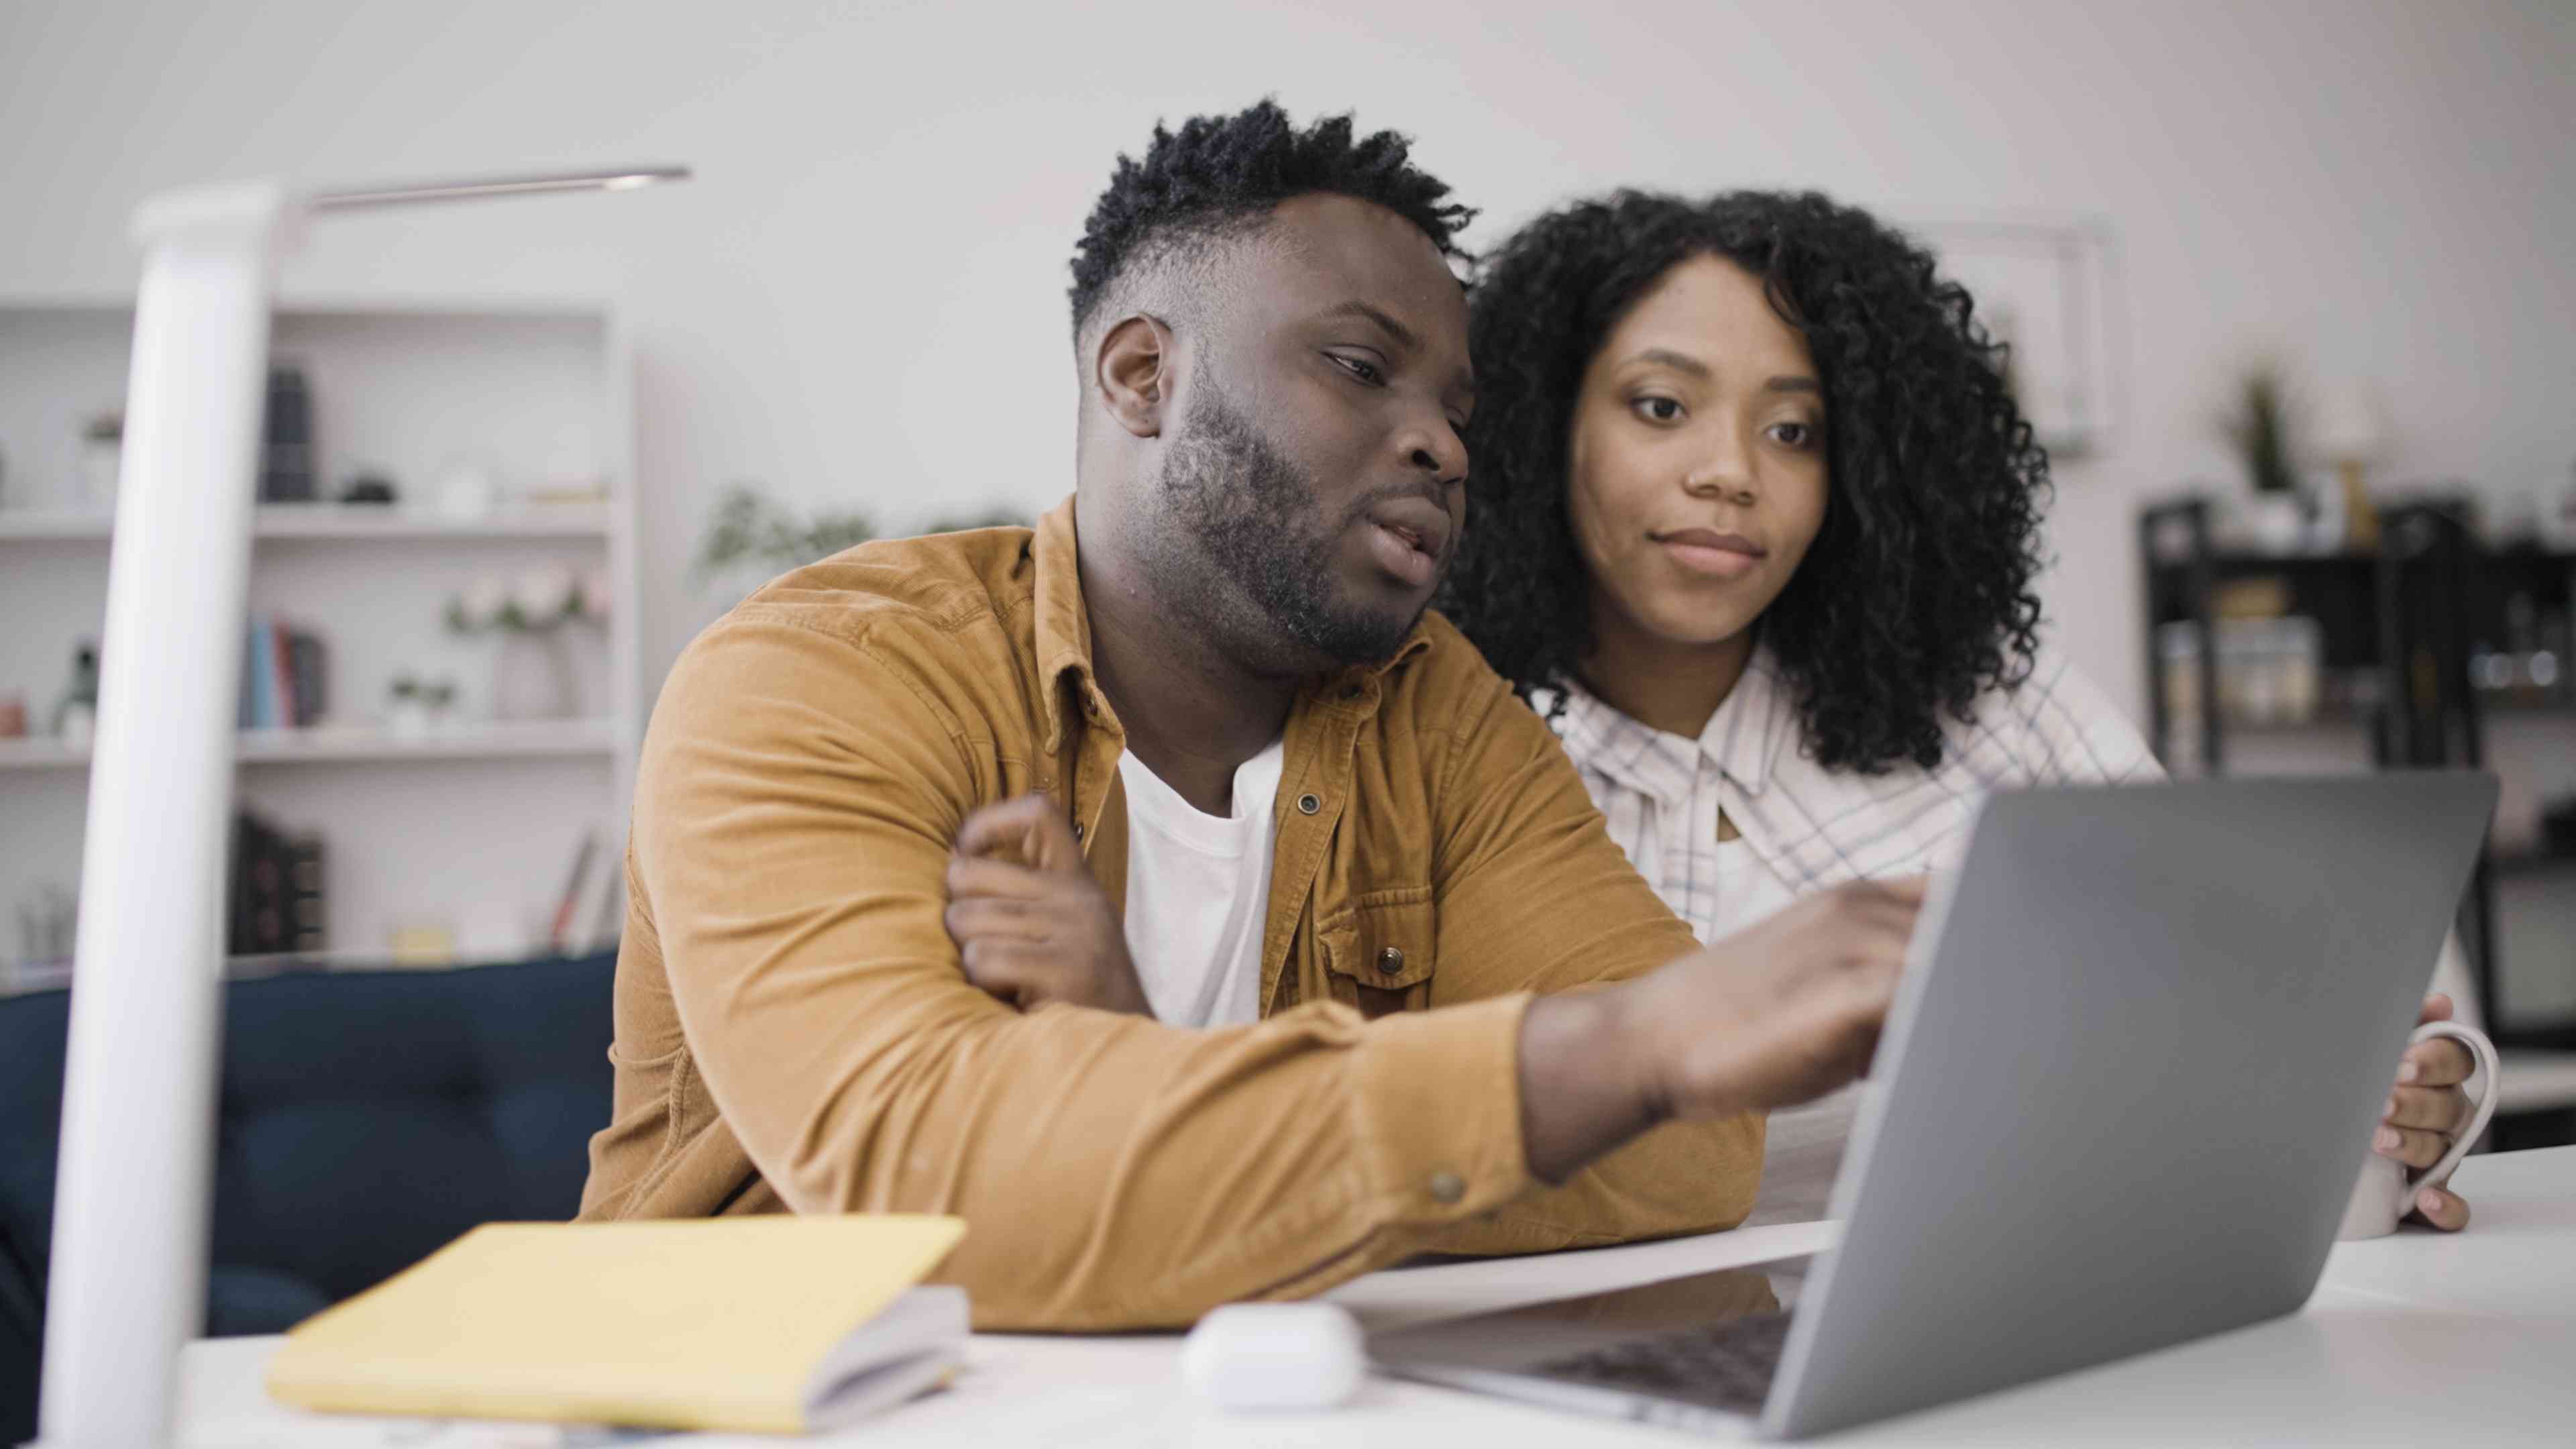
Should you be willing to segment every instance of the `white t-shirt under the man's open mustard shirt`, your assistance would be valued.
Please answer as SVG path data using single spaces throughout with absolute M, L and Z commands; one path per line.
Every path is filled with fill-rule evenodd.
M 1244 1026 L 1262 1016 L 1262 926 L 1270 915 L 1270 802 L 1285 743 L 1234 768 L 1234 815 L 1200 815 L 1133 753 L 1118 755 L 1128 797 L 1126 938 L 1154 1018 Z

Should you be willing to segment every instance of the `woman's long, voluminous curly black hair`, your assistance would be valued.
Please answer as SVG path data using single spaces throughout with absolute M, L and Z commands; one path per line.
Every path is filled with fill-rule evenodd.
M 1759 276 L 1824 382 L 1824 523 L 1759 621 L 1806 750 L 1857 773 L 1932 768 L 1942 712 L 1973 724 L 1981 691 L 2030 676 L 2048 454 L 1968 291 L 1819 193 L 1618 191 L 1492 253 L 1468 312 L 1471 521 L 1440 608 L 1522 699 L 1574 678 L 1592 642 L 1566 518 L 1574 400 L 1628 307 L 1695 255 Z

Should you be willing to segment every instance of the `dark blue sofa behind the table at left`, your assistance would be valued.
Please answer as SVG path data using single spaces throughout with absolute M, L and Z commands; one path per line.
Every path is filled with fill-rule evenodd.
M 562 1220 L 616 954 L 224 985 L 209 1333 L 281 1333 L 477 1222 Z M 0 998 L 0 1444 L 36 1434 L 70 995 Z

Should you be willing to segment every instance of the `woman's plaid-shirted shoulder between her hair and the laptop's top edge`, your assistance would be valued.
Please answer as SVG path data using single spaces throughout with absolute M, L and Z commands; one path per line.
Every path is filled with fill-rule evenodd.
M 2053 642 L 2043 642 L 2014 683 L 1986 688 L 1973 719 L 1942 717 L 1950 748 L 1940 768 L 1981 786 L 2125 784 L 2159 779 L 2154 750 L 2128 714 Z

